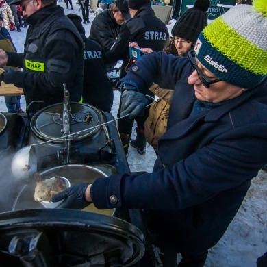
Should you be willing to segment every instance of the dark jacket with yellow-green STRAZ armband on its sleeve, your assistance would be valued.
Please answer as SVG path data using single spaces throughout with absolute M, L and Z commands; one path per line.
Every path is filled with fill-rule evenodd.
M 23 68 L 14 85 L 23 88 L 26 104 L 44 101 L 44 106 L 62 103 L 66 84 L 70 100 L 81 100 L 84 46 L 76 27 L 63 8 L 48 5 L 27 17 L 30 25 L 24 53 L 8 53 L 8 65 Z M 37 112 L 42 105 L 31 105 Z

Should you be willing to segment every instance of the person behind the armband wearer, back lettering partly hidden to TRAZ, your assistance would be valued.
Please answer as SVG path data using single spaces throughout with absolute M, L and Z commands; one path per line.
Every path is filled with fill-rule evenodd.
M 113 88 L 107 77 L 105 62 L 103 61 L 103 50 L 101 46 L 86 38 L 81 17 L 68 14 L 81 38 L 84 40 L 84 90 L 83 102 L 97 107 L 104 112 L 111 111 L 113 104 Z

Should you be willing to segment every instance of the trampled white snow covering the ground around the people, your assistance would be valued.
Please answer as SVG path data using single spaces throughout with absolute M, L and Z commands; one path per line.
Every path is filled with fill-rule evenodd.
M 60 2 L 65 8 L 66 14 L 74 13 L 81 16 L 79 5 L 73 1 L 73 10 L 66 10 L 66 4 Z M 90 13 L 90 21 L 94 14 Z M 171 29 L 175 21 L 171 21 L 168 28 Z M 90 24 L 84 25 L 86 36 L 90 33 Z M 12 40 L 19 52 L 23 51 L 26 34 L 25 28 L 18 33 L 12 31 Z M 0 88 L 1 90 L 1 88 Z M 114 91 L 114 106 L 112 114 L 116 117 L 120 94 Z M 22 97 L 21 106 L 25 110 L 25 100 Z M 0 97 L 0 112 L 7 112 L 3 97 Z M 139 155 L 135 149 L 130 147 L 129 166 L 131 171 L 151 171 L 155 162 L 155 153 L 151 147 L 147 148 L 145 155 Z M 227 168 L 227 166 L 225 166 Z M 257 177 L 252 181 L 251 188 L 240 207 L 236 218 L 229 225 L 223 238 L 214 248 L 210 249 L 205 267 L 253 267 L 256 266 L 257 257 L 267 251 L 267 173 L 259 171 Z M 168 267 L 168 266 L 167 266 Z

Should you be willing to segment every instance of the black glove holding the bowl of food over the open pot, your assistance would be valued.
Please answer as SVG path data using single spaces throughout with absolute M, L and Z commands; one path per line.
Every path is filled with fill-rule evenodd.
M 74 186 L 67 188 L 66 190 L 55 194 L 51 198 L 52 202 L 58 202 L 64 199 L 64 201 L 58 205 L 57 208 L 64 209 L 84 209 L 91 202 L 86 201 L 86 188 L 89 183 L 76 183 Z

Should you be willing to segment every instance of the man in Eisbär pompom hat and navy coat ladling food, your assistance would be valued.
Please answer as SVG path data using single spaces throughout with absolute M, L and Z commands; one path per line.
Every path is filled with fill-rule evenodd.
M 264 13 L 263 2 L 236 5 L 205 27 L 188 58 L 143 55 L 119 81 L 121 115 L 142 110 L 153 81 L 175 90 L 153 173 L 73 185 L 53 201 L 145 209 L 149 232 L 169 245 L 160 246 L 162 262 L 172 247 L 181 253 L 179 267 L 203 266 L 267 162 Z

